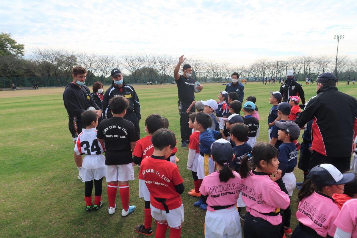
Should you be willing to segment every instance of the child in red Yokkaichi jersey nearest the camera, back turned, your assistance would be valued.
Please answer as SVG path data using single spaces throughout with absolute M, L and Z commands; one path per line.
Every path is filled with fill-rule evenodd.
M 175 134 L 161 128 L 152 135 L 151 141 L 154 152 L 142 160 L 140 173 L 150 192 L 151 216 L 157 220 L 155 237 L 164 238 L 169 225 L 170 238 L 179 238 L 184 220 L 180 194 L 185 186 L 177 165 L 165 159 L 176 146 Z

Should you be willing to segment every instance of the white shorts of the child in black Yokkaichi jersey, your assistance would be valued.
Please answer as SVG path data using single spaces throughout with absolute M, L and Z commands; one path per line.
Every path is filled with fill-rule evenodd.
M 134 167 L 129 164 L 114 164 L 105 166 L 105 178 L 107 182 L 134 180 Z

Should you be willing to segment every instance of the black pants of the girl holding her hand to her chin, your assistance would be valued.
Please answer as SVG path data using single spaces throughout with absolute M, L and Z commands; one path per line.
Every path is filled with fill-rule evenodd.
M 283 224 L 273 226 L 270 222 L 246 213 L 244 219 L 244 237 L 249 238 L 282 238 Z

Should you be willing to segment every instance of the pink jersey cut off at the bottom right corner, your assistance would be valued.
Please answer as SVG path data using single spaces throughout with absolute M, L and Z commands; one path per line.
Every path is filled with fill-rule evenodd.
M 352 238 L 357 238 L 357 199 L 343 204 L 334 224 L 344 232 L 352 232 Z

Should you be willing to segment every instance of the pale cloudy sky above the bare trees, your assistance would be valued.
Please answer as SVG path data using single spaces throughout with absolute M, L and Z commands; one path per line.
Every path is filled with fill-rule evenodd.
M 31 49 L 185 54 L 231 65 L 298 55 L 357 58 L 357 1 L 2 0 L 0 31 Z

